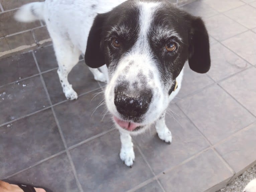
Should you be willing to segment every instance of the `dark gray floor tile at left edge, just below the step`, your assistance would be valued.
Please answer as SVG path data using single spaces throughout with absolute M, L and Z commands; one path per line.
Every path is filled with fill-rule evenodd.
M 0 86 L 38 73 L 32 53 L 0 60 Z

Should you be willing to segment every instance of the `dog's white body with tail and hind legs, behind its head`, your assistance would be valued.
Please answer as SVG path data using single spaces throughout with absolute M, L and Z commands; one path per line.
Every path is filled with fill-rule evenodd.
M 14 18 L 20 22 L 42 20 L 46 23 L 58 63 L 57 74 L 68 100 L 78 98 L 68 81 L 68 74 L 78 63 L 79 56 L 85 53 L 94 17 L 122 2 L 124 0 L 45 0 L 25 4 L 15 13 Z M 95 80 L 108 81 L 106 65 L 100 67 L 102 72 L 91 67 L 89 69 Z

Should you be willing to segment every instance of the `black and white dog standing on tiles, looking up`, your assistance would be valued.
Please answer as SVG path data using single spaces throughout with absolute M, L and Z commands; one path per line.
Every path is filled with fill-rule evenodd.
M 60 81 L 71 99 L 75 91 L 67 74 L 81 52 L 85 52 L 89 67 L 107 65 L 105 100 L 120 131 L 120 158 L 131 166 L 135 155 L 130 135 L 154 124 L 160 139 L 172 141 L 165 111 L 181 87 L 185 61 L 199 73 L 206 73 L 211 61 L 209 37 L 201 18 L 173 7 L 168 0 L 128 0 L 116 6 L 119 3 L 46 0 L 23 6 L 16 18 L 45 20 Z M 116 7 L 111 10 L 109 6 Z

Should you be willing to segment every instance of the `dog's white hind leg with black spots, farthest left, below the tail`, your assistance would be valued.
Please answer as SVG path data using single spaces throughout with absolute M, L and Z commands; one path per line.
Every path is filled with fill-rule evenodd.
M 74 47 L 69 40 L 52 36 L 53 47 L 58 62 L 58 76 L 63 92 L 67 99 L 77 99 L 77 93 L 68 81 L 68 75 L 72 68 L 78 63 L 81 51 Z

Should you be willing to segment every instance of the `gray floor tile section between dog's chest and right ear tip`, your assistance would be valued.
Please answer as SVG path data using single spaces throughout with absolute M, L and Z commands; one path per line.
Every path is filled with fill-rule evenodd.
M 206 74 L 200 74 L 192 71 L 189 68 L 188 63 L 186 63 L 181 83 L 181 89 L 177 94 L 177 98 L 183 98 L 186 95 L 191 94 L 213 83 L 214 81 Z

